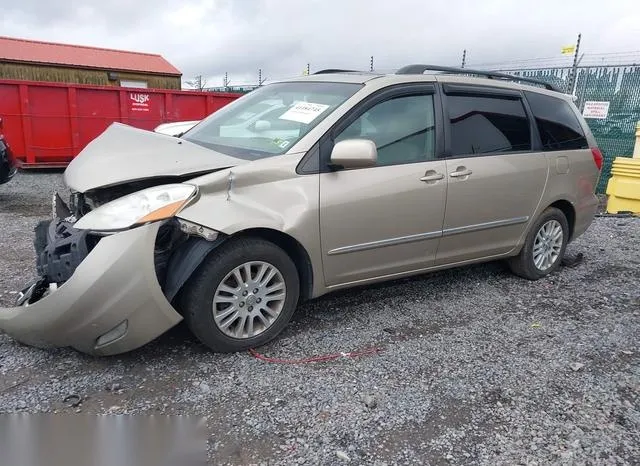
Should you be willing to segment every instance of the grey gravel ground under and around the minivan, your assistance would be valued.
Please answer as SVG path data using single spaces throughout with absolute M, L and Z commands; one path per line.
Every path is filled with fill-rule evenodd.
M 60 180 L 0 186 L 0 305 Z M 260 348 L 383 350 L 326 363 L 212 354 L 182 326 L 112 358 L 0 335 L 0 412 L 203 415 L 216 464 L 639 464 L 640 219 L 597 218 L 569 252 L 537 282 L 492 263 L 324 297 Z

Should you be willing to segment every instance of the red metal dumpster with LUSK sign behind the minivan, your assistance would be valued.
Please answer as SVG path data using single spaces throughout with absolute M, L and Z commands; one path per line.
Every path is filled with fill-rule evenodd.
M 0 80 L 0 118 L 20 166 L 64 167 L 113 122 L 200 120 L 240 95 Z

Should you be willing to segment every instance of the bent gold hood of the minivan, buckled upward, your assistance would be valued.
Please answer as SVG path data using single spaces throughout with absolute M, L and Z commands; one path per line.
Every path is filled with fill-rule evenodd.
M 71 161 L 64 179 L 71 190 L 82 193 L 149 178 L 199 174 L 247 162 L 183 139 L 113 123 Z

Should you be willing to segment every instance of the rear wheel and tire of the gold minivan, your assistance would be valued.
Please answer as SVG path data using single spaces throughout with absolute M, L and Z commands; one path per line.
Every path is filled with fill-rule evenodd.
M 555 207 L 547 208 L 531 227 L 524 246 L 507 263 L 511 271 L 528 280 L 538 280 L 560 267 L 569 238 L 569 222 Z

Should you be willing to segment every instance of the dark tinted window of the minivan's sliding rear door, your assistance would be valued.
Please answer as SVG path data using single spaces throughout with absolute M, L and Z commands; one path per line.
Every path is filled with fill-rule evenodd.
M 531 150 L 531 128 L 518 99 L 447 96 L 451 155 Z

